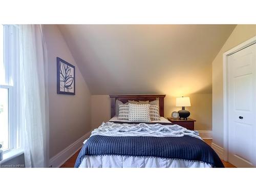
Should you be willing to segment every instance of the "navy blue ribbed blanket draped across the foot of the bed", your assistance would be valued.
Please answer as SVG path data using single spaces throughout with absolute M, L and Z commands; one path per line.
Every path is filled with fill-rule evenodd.
M 201 161 L 211 164 L 212 167 L 224 167 L 218 155 L 208 144 L 190 136 L 111 137 L 95 135 L 90 137 L 81 148 L 75 167 L 79 167 L 86 155 L 150 156 Z

